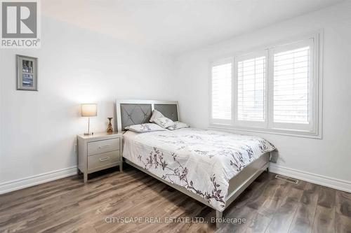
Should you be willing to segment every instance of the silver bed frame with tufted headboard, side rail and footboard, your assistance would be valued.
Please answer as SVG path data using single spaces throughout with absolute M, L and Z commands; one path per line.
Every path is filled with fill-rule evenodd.
M 131 99 L 117 99 L 116 100 L 116 111 L 117 111 L 117 129 L 119 132 L 123 132 L 124 128 L 129 125 L 142 124 L 149 122 L 152 115 L 152 111 L 157 109 L 164 116 L 170 118 L 173 121 L 179 120 L 178 112 L 178 101 L 155 101 L 155 100 L 131 100 Z M 257 160 L 249 164 L 249 166 L 242 169 L 237 176 L 234 176 L 229 181 L 228 194 L 226 197 L 225 208 L 229 206 L 234 200 L 243 192 L 260 174 L 263 173 L 269 167 L 270 154 L 265 153 L 260 156 Z M 143 167 L 134 164 L 133 162 L 126 160 L 127 164 L 139 169 L 140 171 L 149 174 L 150 176 L 157 178 L 159 181 L 166 183 L 167 185 L 175 188 L 176 190 L 183 192 L 197 201 L 205 204 L 206 206 L 212 206 L 206 202 L 205 199 L 196 195 L 194 192 L 187 190 L 179 185 L 174 185 L 165 181 L 164 179 L 155 176 L 150 171 L 143 169 Z M 223 212 L 216 210 L 216 218 L 223 218 Z M 216 222 L 218 227 L 218 221 Z

